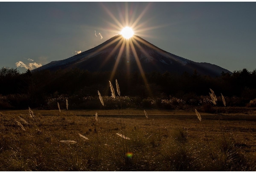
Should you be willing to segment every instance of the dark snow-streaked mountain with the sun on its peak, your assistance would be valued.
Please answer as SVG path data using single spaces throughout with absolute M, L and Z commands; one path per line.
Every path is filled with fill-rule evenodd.
M 134 35 L 124 39 L 121 35 L 112 37 L 104 43 L 70 58 L 52 61 L 33 71 L 80 68 L 88 71 L 125 72 L 175 72 L 219 76 L 230 71 L 210 63 L 198 63 L 168 53 L 148 41 Z

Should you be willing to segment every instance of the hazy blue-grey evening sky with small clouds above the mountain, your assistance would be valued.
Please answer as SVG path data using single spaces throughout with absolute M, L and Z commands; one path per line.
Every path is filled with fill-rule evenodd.
M 169 53 L 229 71 L 256 68 L 256 2 L 0 2 L 0 68 L 34 69 L 133 26 Z

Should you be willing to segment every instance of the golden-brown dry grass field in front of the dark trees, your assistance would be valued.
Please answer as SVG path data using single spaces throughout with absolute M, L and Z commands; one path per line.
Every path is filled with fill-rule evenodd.
M 32 111 L 1 111 L 0 171 L 256 171 L 255 111 Z

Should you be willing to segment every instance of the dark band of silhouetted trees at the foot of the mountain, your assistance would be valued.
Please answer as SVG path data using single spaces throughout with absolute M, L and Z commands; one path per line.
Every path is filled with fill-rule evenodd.
M 67 97 L 110 95 L 109 80 L 112 72 L 90 72 L 78 68 L 57 71 L 33 71 L 29 69 L 20 73 L 17 69 L 3 67 L 0 69 L 0 109 L 6 104 L 16 108 L 40 107 L 47 104 L 49 98 L 65 95 Z M 210 77 L 184 72 L 182 75 L 157 71 L 127 74 L 116 72 L 112 79 L 117 79 L 122 96 L 141 98 L 168 98 L 175 96 L 184 100 L 195 96 L 209 95 L 209 88 L 216 95 L 222 93 L 226 97 L 237 97 L 245 105 L 256 98 L 256 70 L 247 69 L 222 73 Z M 186 97 L 186 98 L 185 98 Z M 7 99 L 9 98 L 9 100 Z M 13 101 L 10 101 L 12 98 Z M 7 106 L 8 107 L 8 106 Z

